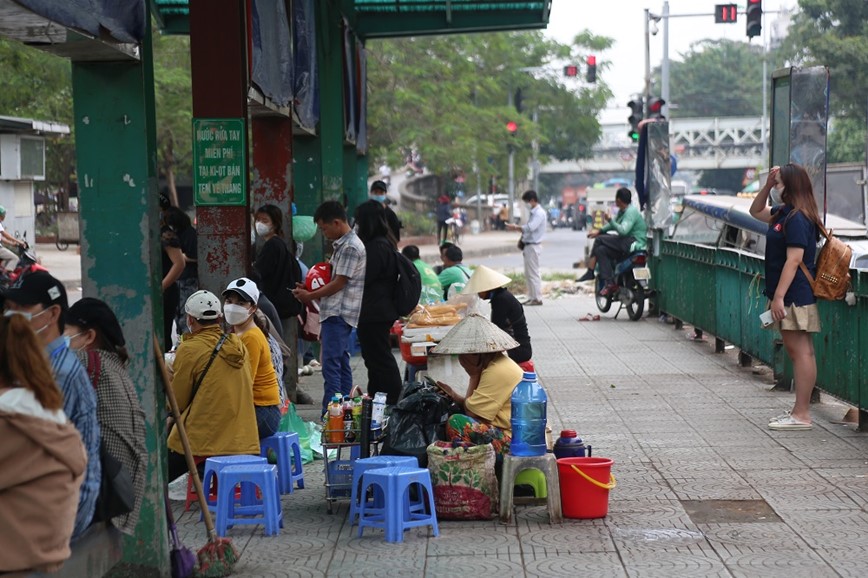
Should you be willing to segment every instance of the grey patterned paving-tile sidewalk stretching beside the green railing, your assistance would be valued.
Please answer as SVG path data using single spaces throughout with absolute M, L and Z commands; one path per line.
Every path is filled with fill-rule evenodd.
M 526 315 L 552 429 L 578 430 L 615 461 L 607 518 L 552 526 L 545 507 L 518 506 L 509 526 L 442 521 L 438 538 L 422 528 L 388 544 L 377 530 L 358 538 L 346 502 L 326 513 L 316 461 L 305 489 L 283 498 L 279 536 L 229 531 L 241 552 L 233 576 L 864 575 L 868 434 L 840 423 L 846 406 L 824 396 L 812 431 L 769 431 L 792 395 L 770 391 L 763 369 L 655 319 L 576 321 L 588 312 L 593 298 L 578 295 Z M 302 387 L 318 399 L 321 382 Z M 299 410 L 315 419 L 317 407 Z M 179 525 L 187 546 L 205 542 L 195 508 Z

